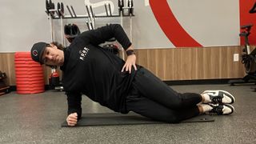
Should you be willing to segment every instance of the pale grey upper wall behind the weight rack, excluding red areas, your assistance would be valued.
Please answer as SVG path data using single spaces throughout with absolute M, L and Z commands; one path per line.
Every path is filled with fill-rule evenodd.
M 84 0 L 53 0 L 72 5 L 77 14 L 86 14 Z M 102 0 L 90 0 L 101 2 Z M 114 14 L 118 13 L 117 0 Z M 238 0 L 168 0 L 170 8 L 184 29 L 203 46 L 238 45 L 239 13 Z M 148 0 L 134 0 L 135 17 L 132 19 L 135 48 L 174 47 L 162 32 Z M 50 42 L 50 25 L 45 13 L 45 0 L 0 1 L 0 52 L 29 51 L 34 42 Z M 65 7 L 66 10 L 66 7 Z M 104 7 L 95 9 L 97 14 Z M 67 13 L 67 10 L 66 10 Z M 69 19 L 86 30 L 85 19 Z M 119 18 L 97 19 L 96 26 L 120 22 Z M 123 26 L 130 35 L 130 19 L 124 18 Z M 60 21 L 54 20 L 55 39 L 60 41 Z

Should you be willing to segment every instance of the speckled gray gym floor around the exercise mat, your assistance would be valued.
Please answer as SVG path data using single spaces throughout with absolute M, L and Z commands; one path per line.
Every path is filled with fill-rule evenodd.
M 171 86 L 179 92 L 228 90 L 235 112 L 214 116 L 215 122 L 88 126 L 62 128 L 66 95 L 48 90 L 41 94 L 0 96 L 0 143 L 256 143 L 256 92 L 250 86 Z M 83 97 L 83 112 L 112 112 Z

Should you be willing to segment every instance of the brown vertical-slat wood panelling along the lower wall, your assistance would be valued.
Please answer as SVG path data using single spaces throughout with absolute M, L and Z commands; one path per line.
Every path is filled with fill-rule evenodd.
M 241 46 L 136 50 L 137 63 L 151 70 L 162 80 L 195 80 L 242 78 L 244 68 L 233 62 L 234 54 L 242 54 Z M 0 53 L 0 70 L 8 76 L 6 83 L 14 86 L 14 53 Z M 48 83 L 50 68 L 45 68 Z

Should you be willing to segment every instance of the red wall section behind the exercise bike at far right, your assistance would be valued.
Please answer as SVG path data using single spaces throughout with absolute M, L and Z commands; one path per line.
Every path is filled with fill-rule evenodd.
M 254 6 L 255 0 L 240 0 L 240 26 L 253 24 L 249 36 L 250 45 L 256 45 L 256 13 L 250 14 L 250 9 Z M 241 45 L 244 44 L 244 38 L 241 39 Z

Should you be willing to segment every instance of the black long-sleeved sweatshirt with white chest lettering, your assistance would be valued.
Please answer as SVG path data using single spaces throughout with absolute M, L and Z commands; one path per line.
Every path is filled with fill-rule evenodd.
M 131 46 L 122 26 L 111 24 L 80 34 L 64 50 L 62 84 L 67 95 L 68 114 L 81 118 L 82 94 L 111 110 L 127 113 L 124 100 L 135 71 L 121 72 L 125 62 L 99 44 L 116 38 L 126 50 Z

